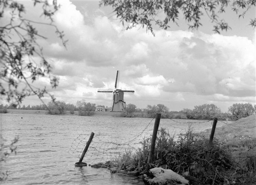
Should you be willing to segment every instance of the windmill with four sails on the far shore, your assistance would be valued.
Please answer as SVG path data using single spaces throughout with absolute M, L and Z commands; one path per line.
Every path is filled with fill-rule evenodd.
M 113 93 L 113 106 L 111 112 L 124 112 L 124 94 L 134 94 L 134 91 L 117 89 L 119 85 L 120 71 L 117 71 L 115 78 L 115 89 L 98 89 L 98 93 Z

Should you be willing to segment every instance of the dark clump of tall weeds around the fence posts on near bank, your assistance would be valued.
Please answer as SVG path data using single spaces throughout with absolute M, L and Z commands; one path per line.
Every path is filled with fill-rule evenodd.
M 141 148 L 136 152 L 126 151 L 117 159 L 117 168 L 126 171 L 138 170 L 139 173 L 146 172 L 150 143 L 151 138 L 144 138 L 141 141 Z M 180 134 L 177 140 L 161 128 L 150 167 L 164 166 L 178 174 L 186 172 L 205 184 L 254 184 L 256 181 L 253 175 L 256 173 L 255 154 L 249 158 L 246 155 L 245 157 L 231 156 L 231 152 L 234 151 L 230 150 L 226 143 L 216 139 L 213 140 L 213 146 L 208 151 L 208 143 L 209 140 L 204 135 L 194 134 L 190 128 L 185 134 Z M 248 154 L 248 149 L 255 148 L 255 141 L 241 141 L 237 145 Z

